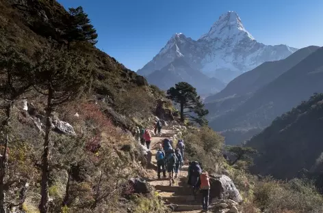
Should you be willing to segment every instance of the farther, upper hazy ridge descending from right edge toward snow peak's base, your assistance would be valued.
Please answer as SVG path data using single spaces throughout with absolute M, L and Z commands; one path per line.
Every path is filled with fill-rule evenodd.
M 218 94 L 205 98 L 205 108 L 209 110 L 209 121 L 237 109 L 238 106 L 253 96 L 255 91 L 296 66 L 297 63 L 318 48 L 318 46 L 301 48 L 286 59 L 265 62 L 257 68 L 237 76 Z

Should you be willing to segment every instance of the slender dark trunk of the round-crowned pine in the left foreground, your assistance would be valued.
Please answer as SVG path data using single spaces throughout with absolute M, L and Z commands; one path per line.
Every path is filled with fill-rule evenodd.
M 53 89 L 49 89 L 49 94 L 47 97 L 47 109 L 46 109 L 46 128 L 44 136 L 44 151 L 42 153 L 42 184 L 40 195 L 39 210 L 40 213 L 47 213 L 48 210 L 48 178 L 49 178 L 49 134 L 51 133 L 51 113 L 53 111 L 52 100 L 53 98 Z

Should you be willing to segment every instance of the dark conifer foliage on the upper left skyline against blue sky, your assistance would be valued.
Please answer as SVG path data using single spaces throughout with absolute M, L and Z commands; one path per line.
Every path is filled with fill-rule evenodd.
M 83 11 L 81 6 L 77 8 L 68 8 L 69 18 L 68 25 L 65 31 L 64 38 L 70 42 L 88 41 L 91 44 L 96 44 L 98 34 L 93 25 L 90 24 L 88 14 Z

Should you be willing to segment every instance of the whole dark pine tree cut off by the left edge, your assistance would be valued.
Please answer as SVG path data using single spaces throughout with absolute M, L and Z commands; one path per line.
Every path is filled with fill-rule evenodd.
M 14 102 L 21 97 L 31 84 L 27 76 L 31 64 L 13 46 L 7 46 L 0 53 L 0 96 L 3 100 L 4 120 L 1 122 L 1 139 L 4 145 L 3 153 L 0 155 L 0 213 L 7 212 L 5 203 L 5 191 L 8 190 L 8 147 L 10 145 L 10 119 Z M 1 107 L 2 108 L 2 107 Z M 22 203 L 19 203 L 21 205 Z

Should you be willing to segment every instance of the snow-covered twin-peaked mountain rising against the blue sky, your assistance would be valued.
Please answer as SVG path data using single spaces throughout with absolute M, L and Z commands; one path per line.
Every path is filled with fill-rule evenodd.
M 230 11 L 220 16 L 209 32 L 198 40 L 183 33 L 172 35 L 166 46 L 138 70 L 138 74 L 148 76 L 183 57 L 192 68 L 228 83 L 265 61 L 285 59 L 295 51 L 296 48 L 283 44 L 271 46 L 257 42 L 246 31 L 237 13 Z

